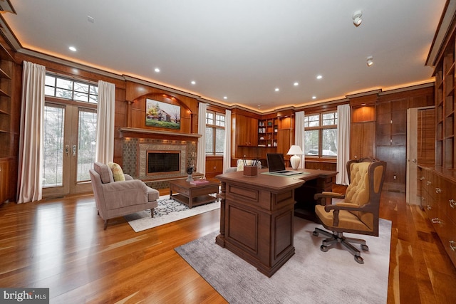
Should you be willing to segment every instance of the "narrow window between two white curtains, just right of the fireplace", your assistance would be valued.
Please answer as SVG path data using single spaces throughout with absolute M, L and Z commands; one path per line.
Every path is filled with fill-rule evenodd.
M 206 111 L 206 155 L 223 155 L 225 141 L 225 115 Z

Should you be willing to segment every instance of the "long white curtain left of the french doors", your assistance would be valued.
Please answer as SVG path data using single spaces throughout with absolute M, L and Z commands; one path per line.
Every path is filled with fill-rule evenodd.
M 46 68 L 24 61 L 21 133 L 19 135 L 18 204 L 43 198 L 43 120 Z

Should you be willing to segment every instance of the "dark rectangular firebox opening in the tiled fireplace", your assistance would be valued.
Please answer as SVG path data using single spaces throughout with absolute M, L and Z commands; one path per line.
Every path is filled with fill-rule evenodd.
M 147 175 L 180 172 L 180 151 L 147 150 Z

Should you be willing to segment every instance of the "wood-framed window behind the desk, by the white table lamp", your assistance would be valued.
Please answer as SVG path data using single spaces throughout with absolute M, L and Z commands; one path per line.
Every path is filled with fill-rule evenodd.
M 337 156 L 337 112 L 304 117 L 305 151 L 309 156 Z

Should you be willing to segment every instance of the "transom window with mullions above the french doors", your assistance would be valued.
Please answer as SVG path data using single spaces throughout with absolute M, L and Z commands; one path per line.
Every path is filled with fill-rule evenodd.
M 98 103 L 98 85 L 46 74 L 44 95 L 83 103 Z

